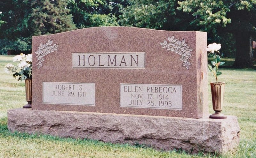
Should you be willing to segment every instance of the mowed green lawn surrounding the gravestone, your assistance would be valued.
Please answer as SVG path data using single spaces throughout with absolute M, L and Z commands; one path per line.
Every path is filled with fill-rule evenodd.
M 234 59 L 226 58 L 228 64 Z M 120 145 L 87 139 L 59 138 L 49 135 L 11 133 L 7 130 L 7 109 L 26 104 L 25 84 L 5 74 L 4 65 L 12 56 L 0 56 L 0 157 L 256 157 L 256 70 L 220 68 L 219 81 L 226 82 L 226 115 L 237 115 L 241 128 L 240 144 L 235 153 L 190 155 L 182 150 L 158 151 L 141 145 Z M 211 74 L 209 81 L 214 81 Z M 212 110 L 210 86 L 209 107 Z

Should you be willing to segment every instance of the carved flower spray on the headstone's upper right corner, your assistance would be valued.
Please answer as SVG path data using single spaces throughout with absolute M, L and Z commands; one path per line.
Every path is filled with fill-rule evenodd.
M 174 35 L 168 37 L 168 41 L 164 40 L 164 42 L 160 42 L 162 48 L 166 48 L 172 52 L 175 52 L 180 55 L 180 60 L 183 61 L 182 66 L 186 67 L 189 70 L 189 66 L 191 65 L 189 61 L 189 57 L 191 56 L 191 51 L 193 48 L 189 48 L 188 43 L 185 42 L 185 39 L 179 40 L 174 38 Z

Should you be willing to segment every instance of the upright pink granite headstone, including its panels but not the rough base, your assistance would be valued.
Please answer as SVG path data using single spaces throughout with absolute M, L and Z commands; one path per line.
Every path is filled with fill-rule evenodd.
M 93 27 L 33 36 L 32 109 L 208 116 L 207 37 Z

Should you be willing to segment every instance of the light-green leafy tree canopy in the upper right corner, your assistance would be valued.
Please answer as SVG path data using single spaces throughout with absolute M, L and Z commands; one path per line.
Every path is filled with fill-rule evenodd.
M 201 26 L 201 30 L 217 33 L 219 26 L 228 27 L 229 31 L 243 30 L 255 32 L 255 0 L 186 0 L 178 2 L 178 10 L 188 12 L 195 18 L 190 25 Z M 230 24 L 232 21 L 232 25 Z

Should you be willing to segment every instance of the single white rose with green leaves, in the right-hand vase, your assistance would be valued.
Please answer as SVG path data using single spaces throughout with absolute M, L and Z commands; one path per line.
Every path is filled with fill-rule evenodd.
M 216 52 L 220 54 L 220 48 L 221 44 L 217 43 L 211 43 L 206 48 L 208 52 L 214 53 L 214 61 L 211 61 L 211 64 L 208 64 L 208 70 L 212 72 L 212 75 L 216 78 L 216 82 L 218 82 L 218 76 L 222 74 L 218 71 L 218 67 L 225 64 L 225 62 L 220 61 L 220 56 L 216 54 Z

